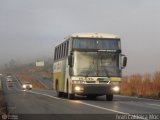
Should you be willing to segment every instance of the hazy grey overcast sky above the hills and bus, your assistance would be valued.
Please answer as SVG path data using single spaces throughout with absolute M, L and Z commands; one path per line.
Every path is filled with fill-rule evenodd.
M 160 0 L 0 0 L 0 64 L 53 56 L 78 32 L 121 37 L 124 74 L 160 70 Z

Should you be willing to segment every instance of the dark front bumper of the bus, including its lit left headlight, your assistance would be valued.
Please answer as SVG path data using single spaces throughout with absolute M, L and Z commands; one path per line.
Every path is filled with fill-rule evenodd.
M 105 95 L 113 93 L 110 84 L 73 84 L 72 91 L 78 95 Z

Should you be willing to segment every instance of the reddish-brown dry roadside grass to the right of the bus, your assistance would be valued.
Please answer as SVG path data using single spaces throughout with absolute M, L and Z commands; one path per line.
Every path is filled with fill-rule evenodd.
M 160 99 L 160 72 L 123 77 L 120 94 Z

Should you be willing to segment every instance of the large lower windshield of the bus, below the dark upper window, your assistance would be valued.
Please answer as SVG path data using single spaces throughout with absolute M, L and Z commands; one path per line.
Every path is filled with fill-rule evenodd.
M 118 53 L 74 51 L 74 76 L 120 77 Z

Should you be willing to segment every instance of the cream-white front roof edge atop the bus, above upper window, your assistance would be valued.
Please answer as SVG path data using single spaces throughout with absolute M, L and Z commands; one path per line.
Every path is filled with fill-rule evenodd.
M 113 34 L 106 34 L 106 33 L 75 33 L 68 37 L 80 37 L 80 38 L 115 38 L 120 39 L 117 35 Z

